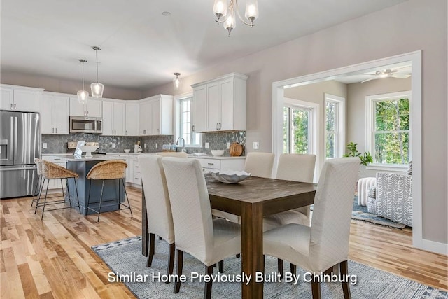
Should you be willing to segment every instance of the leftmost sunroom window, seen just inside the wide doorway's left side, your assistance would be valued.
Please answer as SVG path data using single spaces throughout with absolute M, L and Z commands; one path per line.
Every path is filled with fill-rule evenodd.
M 283 107 L 283 153 L 310 153 L 311 109 L 301 106 Z

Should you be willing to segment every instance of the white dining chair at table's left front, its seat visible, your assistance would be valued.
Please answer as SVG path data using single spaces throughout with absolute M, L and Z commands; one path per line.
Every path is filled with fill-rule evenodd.
M 206 274 L 224 258 L 241 253 L 241 226 L 225 219 L 212 220 L 209 193 L 200 162 L 188 158 L 163 158 L 174 235 L 176 235 L 177 275 L 182 274 L 183 252 L 205 265 Z M 212 282 L 206 282 L 204 298 L 211 298 Z M 174 293 L 179 293 L 176 281 Z

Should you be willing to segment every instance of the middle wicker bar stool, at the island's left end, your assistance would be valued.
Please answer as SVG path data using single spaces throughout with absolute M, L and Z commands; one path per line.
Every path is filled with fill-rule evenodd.
M 78 177 L 79 177 L 78 174 L 76 174 L 76 172 L 72 172 L 69 169 L 66 169 L 62 166 L 59 166 L 55 163 L 48 162 L 45 160 L 40 160 L 40 164 L 41 164 L 41 171 L 42 171 L 42 174 L 41 174 L 42 185 L 41 185 L 41 191 L 38 193 L 36 209 L 34 209 L 34 214 L 36 214 L 38 207 L 42 207 L 41 219 L 43 219 L 43 213 L 45 212 L 45 207 L 49 204 L 66 204 L 66 203 L 68 203 L 68 204 L 70 204 L 70 206 L 57 208 L 57 209 L 50 209 L 50 210 L 46 210 L 46 211 L 55 211 L 58 209 L 68 209 L 68 208 L 71 209 L 73 206 L 71 205 L 69 179 L 73 179 L 73 182 L 74 182 L 74 186 L 75 186 L 75 190 L 76 190 L 76 202 L 78 202 L 78 205 L 74 206 L 74 207 L 77 207 L 79 209 L 79 214 L 80 214 L 81 210 L 80 210 L 80 206 L 79 206 L 78 188 L 76 186 L 76 179 L 78 179 Z M 59 179 L 61 181 L 62 196 L 57 196 L 57 197 L 62 197 L 62 200 L 53 200 L 54 198 L 57 198 L 57 197 L 48 197 L 48 184 L 50 183 L 50 180 L 54 180 L 54 179 Z M 62 185 L 62 179 L 65 179 L 65 181 L 66 181 L 65 193 L 64 193 L 64 187 Z M 45 186 L 45 181 L 47 181 L 47 188 L 45 190 L 45 199 L 43 200 L 43 203 L 42 203 L 41 197 L 42 197 L 43 188 Z M 47 202 L 47 199 L 51 199 L 51 200 Z

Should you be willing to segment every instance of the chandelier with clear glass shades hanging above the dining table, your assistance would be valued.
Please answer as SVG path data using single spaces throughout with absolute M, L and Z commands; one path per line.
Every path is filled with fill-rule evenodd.
M 241 18 L 239 14 L 238 0 L 230 0 L 229 5 L 227 5 L 227 0 L 215 0 L 213 13 L 216 15 L 216 22 L 218 24 L 223 23 L 224 28 L 228 30 L 230 36 L 232 30 L 237 26 L 236 15 L 238 15 L 239 20 L 245 25 L 250 27 L 255 26 L 253 21 L 258 18 L 258 1 L 246 0 L 246 13 L 244 13 L 244 17 L 246 17 L 248 22 Z

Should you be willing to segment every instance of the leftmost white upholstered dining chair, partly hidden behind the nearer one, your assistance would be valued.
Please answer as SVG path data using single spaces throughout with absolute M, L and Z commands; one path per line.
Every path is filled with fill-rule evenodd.
M 169 202 L 167 180 L 160 155 L 142 155 L 139 158 L 141 169 L 141 182 L 145 188 L 146 213 L 148 216 L 148 232 L 150 245 L 146 267 L 153 263 L 155 249 L 155 235 L 158 235 L 169 244 L 167 275 L 173 274 L 174 251 L 174 225 Z

